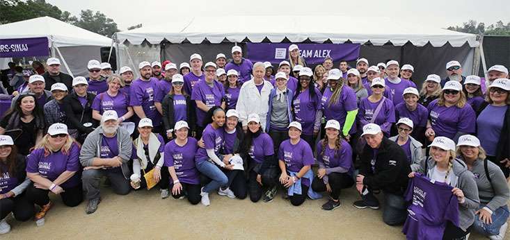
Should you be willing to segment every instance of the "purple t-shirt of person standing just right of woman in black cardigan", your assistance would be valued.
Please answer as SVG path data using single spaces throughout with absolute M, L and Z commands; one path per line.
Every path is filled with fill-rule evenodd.
M 193 88 L 193 94 L 191 94 L 191 100 L 202 101 L 207 107 L 212 108 L 213 106 L 221 106 L 221 99 L 225 96 L 225 90 L 223 90 L 223 85 L 218 81 L 214 80 L 213 87 L 209 87 L 205 80 L 200 80 L 196 83 Z M 202 122 L 204 121 L 205 114 L 200 109 L 196 110 L 197 115 L 197 125 L 202 127 Z

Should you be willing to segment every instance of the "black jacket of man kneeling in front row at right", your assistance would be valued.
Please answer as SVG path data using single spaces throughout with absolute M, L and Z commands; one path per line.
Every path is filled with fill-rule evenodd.
M 408 174 L 411 173 L 404 150 L 397 143 L 383 137 L 377 151 L 374 172 L 370 164 L 373 156 L 374 150 L 368 144 L 365 145 L 360 155 L 360 174 L 365 176 L 363 184 L 391 194 L 404 194 L 409 180 Z

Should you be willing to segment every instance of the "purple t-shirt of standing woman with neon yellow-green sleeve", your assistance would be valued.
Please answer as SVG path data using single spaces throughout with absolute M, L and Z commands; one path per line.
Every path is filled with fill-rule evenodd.
M 331 95 L 331 89 L 326 87 L 324 89 L 324 94 L 321 98 L 321 107 L 324 111 L 324 117 L 327 120 L 335 119 L 340 125 L 340 129 L 342 129 L 345 123 L 345 118 L 347 117 L 347 112 L 358 109 L 358 104 L 356 103 L 356 94 L 351 87 L 342 87 L 340 92 L 340 97 L 338 98 L 337 103 L 329 103 Z M 353 124 L 349 133 L 356 132 L 356 124 Z

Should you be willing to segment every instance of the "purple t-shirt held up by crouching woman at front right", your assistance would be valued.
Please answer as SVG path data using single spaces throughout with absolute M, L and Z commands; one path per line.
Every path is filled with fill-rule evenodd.
M 407 239 L 443 239 L 447 221 L 459 226 L 459 203 L 449 185 L 415 174 L 404 196 L 411 202 L 402 230 Z

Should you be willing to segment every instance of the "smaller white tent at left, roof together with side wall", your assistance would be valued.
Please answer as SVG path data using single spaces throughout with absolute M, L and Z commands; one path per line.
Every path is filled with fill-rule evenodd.
M 100 60 L 99 48 L 112 40 L 52 17 L 37 17 L 0 25 L 0 39 L 47 37 L 51 55 L 60 58 L 61 68 L 73 76 L 85 76 L 90 59 Z

